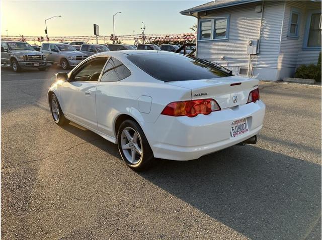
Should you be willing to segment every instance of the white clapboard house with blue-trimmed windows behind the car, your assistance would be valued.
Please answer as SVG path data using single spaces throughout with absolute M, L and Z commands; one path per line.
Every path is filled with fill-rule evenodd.
M 215 0 L 180 13 L 198 19 L 197 57 L 236 75 L 291 77 L 321 51 L 321 1 Z

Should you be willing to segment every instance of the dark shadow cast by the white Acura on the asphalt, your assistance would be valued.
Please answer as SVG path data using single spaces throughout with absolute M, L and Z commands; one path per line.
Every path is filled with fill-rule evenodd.
M 64 129 L 121 159 L 116 145 L 93 132 L 72 125 Z M 193 161 L 155 161 L 138 174 L 252 239 L 304 239 L 319 227 L 318 164 L 251 145 Z

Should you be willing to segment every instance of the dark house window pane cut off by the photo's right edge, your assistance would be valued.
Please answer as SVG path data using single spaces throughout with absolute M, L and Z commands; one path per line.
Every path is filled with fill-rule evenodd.
M 321 46 L 321 14 L 312 14 L 308 32 L 307 47 Z

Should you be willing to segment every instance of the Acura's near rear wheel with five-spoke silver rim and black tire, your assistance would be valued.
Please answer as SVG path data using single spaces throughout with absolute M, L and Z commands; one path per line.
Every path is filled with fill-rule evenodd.
M 153 152 L 136 122 L 126 120 L 120 125 L 117 144 L 122 159 L 128 167 L 134 171 L 144 171 L 151 167 L 154 159 Z

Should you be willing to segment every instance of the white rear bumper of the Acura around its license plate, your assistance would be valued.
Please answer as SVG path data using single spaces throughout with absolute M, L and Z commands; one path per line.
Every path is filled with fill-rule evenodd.
M 154 124 L 142 123 L 155 158 L 193 160 L 243 142 L 263 127 L 265 104 L 262 101 L 215 111 L 196 117 L 160 115 Z M 246 118 L 249 133 L 232 137 L 233 121 Z

